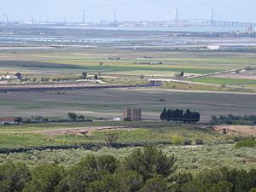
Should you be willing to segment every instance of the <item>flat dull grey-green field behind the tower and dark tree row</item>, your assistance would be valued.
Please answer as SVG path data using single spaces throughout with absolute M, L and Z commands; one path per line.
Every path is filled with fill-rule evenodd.
M 159 119 L 163 108 L 190 108 L 201 112 L 202 120 L 212 115 L 255 114 L 255 94 L 235 94 L 162 89 L 67 90 L 62 92 L 0 93 L 0 116 L 42 115 L 87 118 L 121 117 L 126 107 L 142 108 L 144 119 Z

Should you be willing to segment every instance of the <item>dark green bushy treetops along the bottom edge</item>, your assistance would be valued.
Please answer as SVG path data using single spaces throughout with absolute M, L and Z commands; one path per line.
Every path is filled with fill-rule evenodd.
M 157 148 L 136 149 L 122 160 L 88 155 L 73 166 L 0 165 L 1 192 L 255 192 L 256 169 L 177 170 L 176 158 Z

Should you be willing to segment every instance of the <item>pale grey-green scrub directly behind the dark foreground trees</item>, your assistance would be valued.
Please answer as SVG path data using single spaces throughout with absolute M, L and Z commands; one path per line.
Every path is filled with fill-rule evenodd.
M 234 144 L 202 145 L 199 147 L 158 145 L 157 148 L 163 150 L 167 155 L 175 155 L 179 172 L 201 172 L 204 169 L 218 168 L 219 166 L 251 170 L 256 164 L 256 148 L 245 147 L 246 145 L 242 142 L 238 143 L 237 146 Z M 141 147 L 119 149 L 104 147 L 91 150 L 84 148 L 31 150 L 25 153 L 0 154 L 0 163 L 22 162 L 29 167 L 38 164 L 56 163 L 67 167 L 78 163 L 88 154 L 96 156 L 108 154 L 113 155 L 118 160 L 123 160 L 137 148 Z

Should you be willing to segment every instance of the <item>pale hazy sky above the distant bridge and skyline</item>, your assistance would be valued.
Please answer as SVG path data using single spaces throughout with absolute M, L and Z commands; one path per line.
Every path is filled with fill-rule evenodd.
M 87 20 L 172 20 L 175 9 L 181 19 L 210 19 L 256 22 L 256 0 L 0 0 L 0 19 L 81 21 Z

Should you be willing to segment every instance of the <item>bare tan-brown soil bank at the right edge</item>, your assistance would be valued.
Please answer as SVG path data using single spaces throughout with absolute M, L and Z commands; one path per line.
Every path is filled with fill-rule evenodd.
M 228 135 L 239 135 L 239 136 L 256 136 L 256 126 L 245 126 L 245 125 L 221 125 L 214 126 L 215 131 L 219 131 L 223 134 Z

